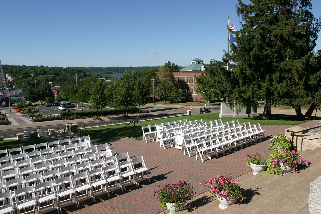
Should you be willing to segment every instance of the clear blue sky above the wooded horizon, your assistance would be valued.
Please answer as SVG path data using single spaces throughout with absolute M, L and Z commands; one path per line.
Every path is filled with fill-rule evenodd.
M 243 1 L 247 2 L 247 0 Z M 321 16 L 321 1 L 312 0 Z M 0 0 L 2 64 L 188 66 L 221 60 L 237 0 Z M 321 35 L 320 35 L 321 37 Z M 316 49 L 321 49 L 321 39 Z

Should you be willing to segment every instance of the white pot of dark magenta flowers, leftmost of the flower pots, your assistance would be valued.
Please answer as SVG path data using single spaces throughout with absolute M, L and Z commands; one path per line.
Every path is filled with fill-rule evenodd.
M 157 187 L 159 190 L 154 191 L 154 196 L 155 194 L 157 195 L 154 200 L 157 200 L 159 205 L 164 208 L 166 206 L 169 210 L 172 208 L 172 213 L 189 208 L 190 204 L 187 201 L 191 200 L 194 194 L 196 194 L 194 187 L 187 181 L 178 181 L 177 183 L 163 184 Z

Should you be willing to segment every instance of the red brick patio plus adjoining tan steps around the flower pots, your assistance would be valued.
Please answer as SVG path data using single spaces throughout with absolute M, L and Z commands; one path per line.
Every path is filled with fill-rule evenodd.
M 304 125 L 311 126 L 313 124 L 314 121 L 310 121 Z M 151 169 L 151 183 L 145 180 L 140 182 L 139 187 L 135 185 L 127 186 L 126 192 L 114 191 L 110 193 L 110 197 L 106 193 L 101 194 L 96 197 L 95 203 L 91 198 L 82 200 L 80 208 L 77 209 L 76 205 L 69 205 L 62 209 L 63 213 L 163 213 L 165 209 L 160 207 L 157 201 L 154 201 L 154 190 L 157 189 L 158 185 L 175 183 L 178 180 L 189 181 L 195 187 L 198 195 L 193 200 L 194 208 L 192 210 L 183 210 L 179 213 L 213 213 L 215 211 L 229 213 L 232 209 L 236 209 L 239 213 L 256 212 L 257 210 L 260 213 L 270 213 L 272 211 L 279 212 L 275 207 L 282 206 L 289 209 L 284 210 L 285 213 L 298 212 L 299 210 L 301 210 L 300 213 L 308 213 L 307 198 L 304 197 L 307 197 L 306 193 L 311 180 L 313 181 L 320 176 L 318 172 L 320 171 L 321 157 L 315 155 L 320 149 L 314 151 L 313 158 L 310 158 L 309 154 L 311 153 L 309 151 L 304 152 L 304 157 L 310 159 L 311 165 L 302 169 L 299 174 L 287 174 L 285 176 L 268 174 L 258 178 L 250 172 L 251 168 L 245 165 L 244 158 L 249 153 L 267 151 L 269 139 L 275 134 L 283 134 L 285 129 L 290 128 L 290 126 L 262 126 L 262 128 L 266 130 L 267 140 L 240 148 L 237 151 L 232 150 L 231 153 L 227 152 L 225 155 L 221 154 L 218 158 L 214 155 L 212 160 L 206 158 L 204 163 L 200 159 L 196 160 L 195 154 L 188 157 L 188 155 L 184 156 L 183 153 L 180 153 L 179 150 L 175 151 L 174 148 L 164 150 L 153 141 L 145 143 L 130 138 L 108 141 L 115 154 L 129 152 L 130 157 L 143 156 L 147 167 Z M 227 175 L 230 173 L 233 173 L 235 177 L 240 176 L 241 184 L 248 190 L 248 201 L 246 204 L 235 205 L 222 211 L 218 208 L 217 200 L 207 197 L 207 194 L 204 193 L 206 191 L 204 186 L 199 185 L 199 183 L 218 174 Z M 309 179 L 300 178 L 304 174 L 308 174 Z M 292 179 L 299 179 L 299 183 L 292 182 Z M 279 184 L 277 185 L 275 182 Z M 299 188 L 295 188 L 293 185 L 297 185 Z M 266 189 L 266 187 L 271 189 Z M 290 191 L 291 194 L 283 193 L 285 190 Z M 296 197 L 299 191 L 304 192 L 304 197 Z M 254 208 L 254 210 L 247 210 L 249 208 Z M 243 209 L 247 211 L 244 212 Z M 56 210 L 50 213 L 56 213 Z

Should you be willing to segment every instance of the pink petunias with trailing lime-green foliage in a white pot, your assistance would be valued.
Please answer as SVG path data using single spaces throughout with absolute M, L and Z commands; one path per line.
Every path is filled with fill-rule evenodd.
M 268 164 L 267 173 L 283 175 L 292 170 L 297 171 L 297 165 L 308 164 L 308 160 L 294 150 L 283 149 L 281 152 L 273 152 L 268 158 Z

